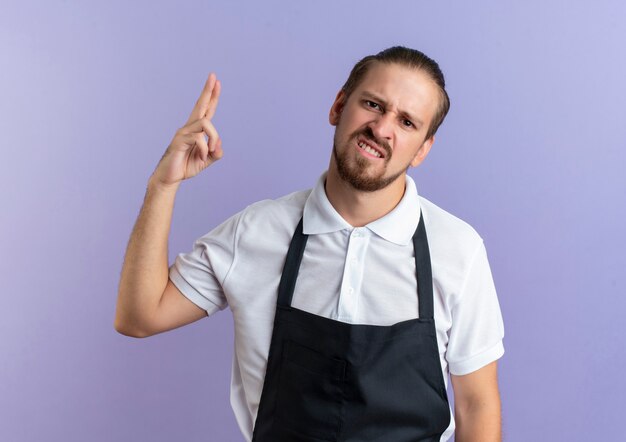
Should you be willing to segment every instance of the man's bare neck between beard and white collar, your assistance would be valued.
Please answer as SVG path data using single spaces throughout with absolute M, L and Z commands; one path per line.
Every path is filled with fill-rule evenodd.
M 375 192 L 356 190 L 341 179 L 331 164 L 325 190 L 328 201 L 343 219 L 353 227 L 363 227 L 391 212 L 402 199 L 405 187 L 402 174 L 384 189 Z

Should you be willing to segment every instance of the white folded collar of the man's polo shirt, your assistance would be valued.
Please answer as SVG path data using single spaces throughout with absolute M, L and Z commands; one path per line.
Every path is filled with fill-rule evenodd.
M 304 204 L 303 233 L 305 235 L 332 233 L 354 228 L 330 204 L 324 189 L 325 182 L 326 172 L 319 178 Z M 413 238 L 419 217 L 420 204 L 417 188 L 413 179 L 406 175 L 404 195 L 398 205 L 387 215 L 372 221 L 365 227 L 387 241 L 407 245 Z

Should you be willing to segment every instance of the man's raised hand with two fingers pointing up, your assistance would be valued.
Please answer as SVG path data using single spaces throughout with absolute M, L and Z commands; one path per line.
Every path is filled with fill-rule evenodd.
M 152 174 L 156 184 L 176 185 L 222 158 L 222 140 L 211 123 L 220 91 L 221 83 L 211 73 L 187 123 L 176 131 Z

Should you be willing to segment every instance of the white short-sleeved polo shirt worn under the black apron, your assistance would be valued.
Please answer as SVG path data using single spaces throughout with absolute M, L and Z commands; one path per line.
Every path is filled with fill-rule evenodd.
M 417 194 L 407 175 L 400 203 L 360 228 L 328 201 L 323 174 L 313 190 L 252 204 L 179 254 L 170 279 L 209 315 L 230 307 L 235 326 L 231 405 L 252 439 L 273 330 L 278 283 L 300 217 L 309 239 L 292 305 L 351 324 L 418 317 L 412 236 L 424 216 L 443 376 L 463 375 L 504 354 L 504 327 L 482 238 Z M 451 413 L 452 415 L 452 413 Z M 442 436 L 454 431 L 454 418 Z

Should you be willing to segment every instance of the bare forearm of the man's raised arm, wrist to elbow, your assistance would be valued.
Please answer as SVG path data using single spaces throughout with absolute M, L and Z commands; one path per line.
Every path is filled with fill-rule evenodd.
M 140 331 L 167 285 L 168 238 L 178 186 L 158 186 L 152 178 L 148 182 L 120 278 L 115 328 L 121 333 Z

